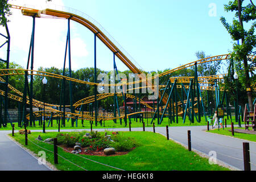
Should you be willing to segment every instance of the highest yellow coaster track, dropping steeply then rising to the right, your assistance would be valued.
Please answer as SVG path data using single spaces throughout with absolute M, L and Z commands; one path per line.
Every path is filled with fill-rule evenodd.
M 88 18 L 79 16 L 79 15 L 76 15 L 76 14 L 73 14 L 73 13 L 68 13 L 68 12 L 65 12 L 65 11 L 59 11 L 59 10 L 53 10 L 53 9 L 36 10 L 36 9 L 29 8 L 29 7 L 22 7 L 22 6 L 16 6 L 16 5 L 11 5 L 11 7 L 14 8 L 14 9 L 22 10 L 22 14 L 26 15 L 26 16 L 34 16 L 34 15 L 36 15 L 36 17 L 40 18 L 41 15 L 44 14 L 44 15 L 49 15 L 49 16 L 53 16 L 53 17 L 71 19 L 71 20 L 74 20 L 77 23 L 82 24 L 83 26 L 88 28 L 90 31 L 92 31 L 93 34 L 95 34 L 98 37 L 98 39 L 100 39 L 102 41 L 102 43 L 104 43 L 106 45 L 106 47 L 108 47 L 113 53 L 115 53 L 115 55 L 133 73 L 141 73 L 141 71 L 137 67 L 135 67 L 135 65 L 133 63 L 131 63 L 131 60 L 128 59 L 128 57 L 125 56 L 123 51 L 121 49 L 119 49 L 113 43 L 113 41 L 110 40 L 110 38 L 108 37 L 110 35 L 106 36 L 106 31 L 104 31 L 104 28 L 103 27 L 99 28 L 98 26 L 96 26 L 95 23 L 92 23 L 90 20 L 88 20 Z M 181 67 L 178 67 L 178 68 L 175 68 L 175 69 L 171 69 L 170 71 L 161 73 L 159 76 L 170 74 L 171 72 L 177 71 L 179 69 L 184 69 L 184 68 L 191 67 L 191 66 L 195 65 L 195 63 L 201 64 L 201 63 L 207 63 L 209 61 L 226 60 L 226 59 L 230 59 L 230 58 L 231 58 L 230 55 L 220 55 L 220 56 L 208 57 L 207 59 L 202 59 L 202 60 L 194 61 L 192 63 L 185 64 L 185 65 L 183 65 Z M 255 59 L 255 56 L 252 59 Z M 144 81 L 149 86 L 151 86 L 151 84 L 150 84 L 151 82 L 148 83 L 148 80 L 152 80 L 152 78 L 156 77 L 156 76 L 154 76 L 154 77 L 151 77 L 151 78 L 146 78 L 143 75 L 139 75 L 139 76 L 140 76 L 140 80 L 138 82 Z M 136 83 L 136 82 L 129 83 L 129 84 L 134 84 L 134 83 Z M 160 97 L 160 92 L 159 92 L 159 97 Z M 167 95 L 166 94 L 163 97 L 163 102 L 164 103 L 167 102 Z

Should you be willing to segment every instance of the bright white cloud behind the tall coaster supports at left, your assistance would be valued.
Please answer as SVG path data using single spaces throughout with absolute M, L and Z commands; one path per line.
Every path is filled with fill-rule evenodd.
M 52 4 L 52 2 L 46 3 L 46 0 L 19 0 L 9 1 L 9 3 L 20 6 L 24 4 L 33 5 L 38 9 L 44 9 L 43 6 Z M 61 0 L 55 0 L 54 3 L 60 6 L 64 5 Z M 13 15 L 10 16 L 11 22 L 8 23 L 11 35 L 10 61 L 15 61 L 15 63 L 26 68 L 32 32 L 32 18 L 22 15 L 20 10 L 11 9 L 11 11 Z M 38 69 L 40 66 L 63 68 L 67 22 L 65 19 L 36 18 L 34 69 Z M 76 62 L 80 59 L 84 60 L 88 55 L 88 51 L 86 50 L 86 43 L 80 39 L 80 35 L 76 32 L 77 30 L 72 23 L 71 30 L 72 69 L 79 69 L 79 63 Z M 0 32 L 5 34 L 5 28 L 1 27 Z M 6 48 L 1 48 L 0 56 L 5 54 Z M 66 62 L 67 67 L 68 59 Z

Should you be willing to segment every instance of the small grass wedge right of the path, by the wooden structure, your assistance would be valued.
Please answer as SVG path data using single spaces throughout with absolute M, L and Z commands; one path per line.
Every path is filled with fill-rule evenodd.
M 234 127 L 234 129 L 241 129 L 239 127 Z M 244 129 L 244 127 L 242 128 Z M 244 134 L 244 133 L 234 133 L 234 136 L 232 136 L 232 132 L 229 131 L 231 130 L 230 127 L 224 127 L 224 130 L 223 129 L 214 129 L 214 130 L 210 130 L 210 131 L 207 131 L 209 133 L 216 133 L 216 134 L 220 134 L 220 135 L 226 135 L 226 136 L 230 136 L 230 137 L 235 137 L 235 138 L 240 138 L 240 139 L 245 139 L 245 140 L 250 140 L 252 142 L 256 142 L 256 135 L 253 135 L 253 134 Z

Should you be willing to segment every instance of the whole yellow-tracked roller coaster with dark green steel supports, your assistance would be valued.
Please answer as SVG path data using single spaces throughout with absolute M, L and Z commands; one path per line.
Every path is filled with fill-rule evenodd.
M 185 116 L 188 115 L 189 119 L 193 120 L 193 115 L 197 113 L 198 119 L 197 121 L 200 122 L 200 117 L 205 117 L 207 114 L 207 111 L 205 110 L 203 97 L 201 96 L 201 90 L 209 90 L 214 91 L 216 93 L 216 104 L 220 104 L 224 101 L 224 98 L 222 98 L 222 101 L 220 101 L 220 94 L 219 92 L 227 92 L 228 90 L 225 90 L 223 86 L 220 86 L 219 82 L 223 82 L 224 76 L 226 75 L 213 75 L 213 76 L 204 76 L 199 77 L 197 76 L 197 65 L 204 64 L 212 61 L 224 61 L 224 60 L 230 60 L 232 59 L 231 55 L 218 55 L 218 56 L 212 56 L 207 57 L 205 59 L 192 61 L 191 63 L 181 65 L 180 67 L 171 69 L 169 71 L 160 73 L 159 75 L 154 75 L 151 77 L 145 77 L 141 71 L 141 69 L 138 68 L 134 63 L 136 63 L 133 58 L 108 34 L 108 32 L 105 31 L 103 27 L 100 26 L 95 20 L 90 18 L 90 16 L 85 15 L 83 13 L 80 13 L 80 11 L 73 11 L 72 9 L 67 9 L 65 7 L 60 7 L 57 9 L 43 9 L 38 10 L 34 9 L 29 6 L 16 6 L 11 5 L 11 8 L 13 9 L 19 9 L 21 10 L 22 14 L 25 16 L 31 16 L 33 18 L 33 27 L 32 27 L 32 35 L 31 35 L 31 44 L 30 44 L 30 53 L 28 56 L 28 64 L 27 69 L 9 69 L 9 56 L 7 56 L 7 60 L 5 61 L 8 66 L 6 66 L 6 69 L 0 69 L 0 82 L 4 83 L 6 85 L 5 90 L 0 90 L 0 94 L 5 97 L 5 103 L 7 101 L 7 98 L 11 100 L 15 100 L 18 102 L 23 103 L 23 117 L 22 117 L 22 123 L 26 122 L 26 119 L 32 121 L 35 117 L 40 117 L 42 114 L 44 117 L 51 117 L 51 118 L 62 118 L 65 120 L 65 118 L 71 118 L 71 119 L 84 119 L 87 121 L 95 121 L 96 125 L 97 122 L 100 120 L 108 121 L 116 119 L 124 119 L 125 123 L 127 124 L 127 119 L 130 119 L 131 116 L 140 115 L 143 113 L 146 113 L 146 111 L 133 111 L 131 113 L 128 113 L 127 106 L 126 106 L 126 99 L 130 98 L 131 100 L 134 100 L 134 103 L 139 102 L 139 104 L 144 105 L 145 107 L 151 109 L 151 111 L 147 111 L 147 113 L 152 113 L 152 122 L 154 121 L 156 115 L 158 117 L 158 124 L 160 124 L 163 120 L 164 115 L 169 115 L 172 113 L 172 118 L 174 119 L 174 115 L 176 115 L 176 119 L 179 116 L 183 116 L 184 122 L 185 122 Z M 68 36 L 67 36 L 67 43 L 65 48 L 65 60 L 64 60 L 64 68 L 65 69 L 65 61 L 68 53 L 68 59 L 69 59 L 69 76 L 63 76 L 63 75 L 56 75 L 54 73 L 48 73 L 44 71 L 35 71 L 33 69 L 28 69 L 28 65 L 30 64 L 31 59 L 31 68 L 33 68 L 33 61 L 34 61 L 34 35 L 35 35 L 35 19 L 36 18 L 63 18 L 68 20 Z M 88 28 L 90 31 L 94 34 L 94 82 L 88 82 L 88 81 L 82 81 L 77 80 L 75 78 L 72 78 L 71 75 L 71 54 L 70 54 L 70 20 L 73 20 L 77 23 L 82 24 L 82 26 Z M 8 36 L 6 38 L 9 38 L 9 31 L 6 25 L 6 31 Z M 2 35 L 2 34 L 1 34 Z M 113 52 L 114 57 L 114 70 L 118 73 L 117 67 L 115 65 L 115 56 L 118 57 L 119 60 L 122 61 L 123 64 L 126 65 L 127 68 L 130 69 L 133 73 L 138 73 L 139 80 L 133 81 L 133 82 L 125 82 L 125 85 L 136 85 L 141 84 L 142 82 L 146 83 L 146 86 L 135 86 L 134 88 L 128 89 L 128 90 L 135 90 L 135 89 L 142 89 L 142 88 L 152 88 L 154 92 L 158 92 L 158 98 L 156 101 L 157 106 L 151 106 L 147 104 L 147 102 L 144 102 L 141 98 L 137 97 L 136 95 L 133 96 L 132 94 L 126 94 L 123 91 L 120 92 L 114 92 L 114 93 L 102 93 L 97 94 L 96 87 L 97 86 L 122 86 L 123 83 L 119 84 L 102 84 L 98 83 L 96 80 L 96 39 L 101 40 L 102 43 L 105 44 L 106 47 L 110 49 L 111 52 Z M 9 39 L 10 40 L 10 39 Z M 8 42 L 10 44 L 10 42 Z M 10 46 L 10 45 L 9 45 Z M 10 51 L 10 50 L 9 50 Z M 7 54 L 9 54 L 9 51 L 7 51 Z M 31 55 L 31 57 L 30 57 Z M 248 57 L 250 60 L 255 60 L 254 55 L 250 55 Z M 2 60 L 3 61 L 3 60 Z M 189 67 L 195 67 L 195 76 L 193 77 L 170 77 L 170 80 L 168 81 L 167 85 L 158 85 L 160 88 L 159 90 L 156 90 L 154 86 L 152 86 L 152 81 L 156 79 L 156 77 L 162 77 L 165 75 L 168 75 L 172 72 L 179 71 L 184 68 Z M 24 93 L 20 92 L 19 90 L 15 89 L 13 86 L 11 86 L 8 82 L 9 76 L 15 76 L 15 75 L 24 75 L 25 77 L 25 85 L 24 85 Z M 27 96 L 27 77 L 30 76 L 30 91 L 31 93 L 29 96 Z M 60 98 L 61 104 L 55 105 L 55 104 L 48 104 L 44 103 L 42 101 L 35 100 L 32 98 L 32 88 L 33 88 L 33 76 L 40 76 L 40 77 L 53 77 L 57 78 L 62 81 L 62 84 L 64 84 L 65 81 L 69 81 L 69 93 L 72 95 L 72 82 L 77 82 L 79 84 L 86 84 L 86 85 L 92 85 L 94 86 L 94 96 L 83 98 L 80 101 L 75 102 L 75 104 L 72 101 L 72 97 L 70 97 L 70 105 L 64 105 L 63 102 L 63 87 L 61 90 Z M 5 77 L 5 79 L 3 78 Z M 214 85 L 214 86 L 212 86 Z M 8 88 L 8 89 L 7 89 Z M 255 90 L 255 85 L 252 86 L 252 88 Z M 183 96 L 179 96 L 177 93 L 177 89 L 181 89 L 181 94 L 184 94 Z M 18 94 L 16 96 L 15 94 L 8 93 L 8 90 L 12 90 L 15 94 Z M 127 91 L 128 91 L 127 90 Z M 7 94 L 6 94 L 7 93 Z M 196 93 L 196 97 L 195 97 Z M 97 102 L 100 100 L 103 100 L 104 98 L 114 98 L 114 111 L 113 113 L 102 113 L 97 111 Z M 117 97 L 122 97 L 123 102 L 125 103 L 124 111 L 119 111 L 118 103 L 117 103 Z M 177 101 L 179 97 L 180 101 Z M 228 100 L 226 98 L 226 105 L 228 107 Z M 25 107 L 27 105 L 30 105 L 30 113 L 26 114 Z M 82 111 L 81 106 L 86 104 L 94 104 L 94 111 Z M 162 112 L 159 112 L 159 104 L 162 104 Z M 208 104 L 209 105 L 209 104 Z M 38 107 L 38 108 L 44 108 L 44 110 L 39 111 L 33 111 L 32 106 Z M 5 119 L 7 121 L 7 105 L 5 105 Z M 65 107 L 70 107 L 71 111 L 65 111 Z M 62 108 L 64 110 L 62 110 Z M 77 110 L 79 109 L 79 110 Z M 168 114 L 167 114 L 168 109 Z M 117 112 L 118 110 L 118 112 Z M 154 110 L 154 111 L 153 111 Z M 204 114 L 201 112 L 203 111 Z M 153 115 L 154 114 L 154 115 Z M 189 115 L 191 114 L 191 115 Z M 32 115 L 32 117 L 31 117 Z M 160 117 L 161 116 L 161 117 Z M 231 113 L 230 113 L 231 116 Z M 4 121 L 4 122 L 6 122 Z M 72 120 L 73 121 L 73 120 Z M 131 122 L 131 121 L 130 121 Z M 31 122 L 32 123 L 32 122 Z M 0 123 L 1 125 L 1 123 Z

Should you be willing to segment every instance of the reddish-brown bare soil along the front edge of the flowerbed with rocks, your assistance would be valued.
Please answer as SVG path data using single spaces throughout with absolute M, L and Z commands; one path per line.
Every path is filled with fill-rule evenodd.
M 66 146 L 60 146 L 61 148 L 64 148 L 65 150 L 72 152 L 73 147 L 66 147 Z M 123 152 L 115 152 L 113 155 L 105 155 L 103 150 L 100 151 L 90 151 L 88 150 L 89 147 L 82 147 L 81 151 L 79 154 L 81 155 L 97 155 L 97 156 L 116 156 L 116 155 L 125 155 L 128 154 L 130 151 L 123 151 Z M 135 147 L 134 147 L 135 148 Z M 132 148 L 131 150 L 134 150 Z

